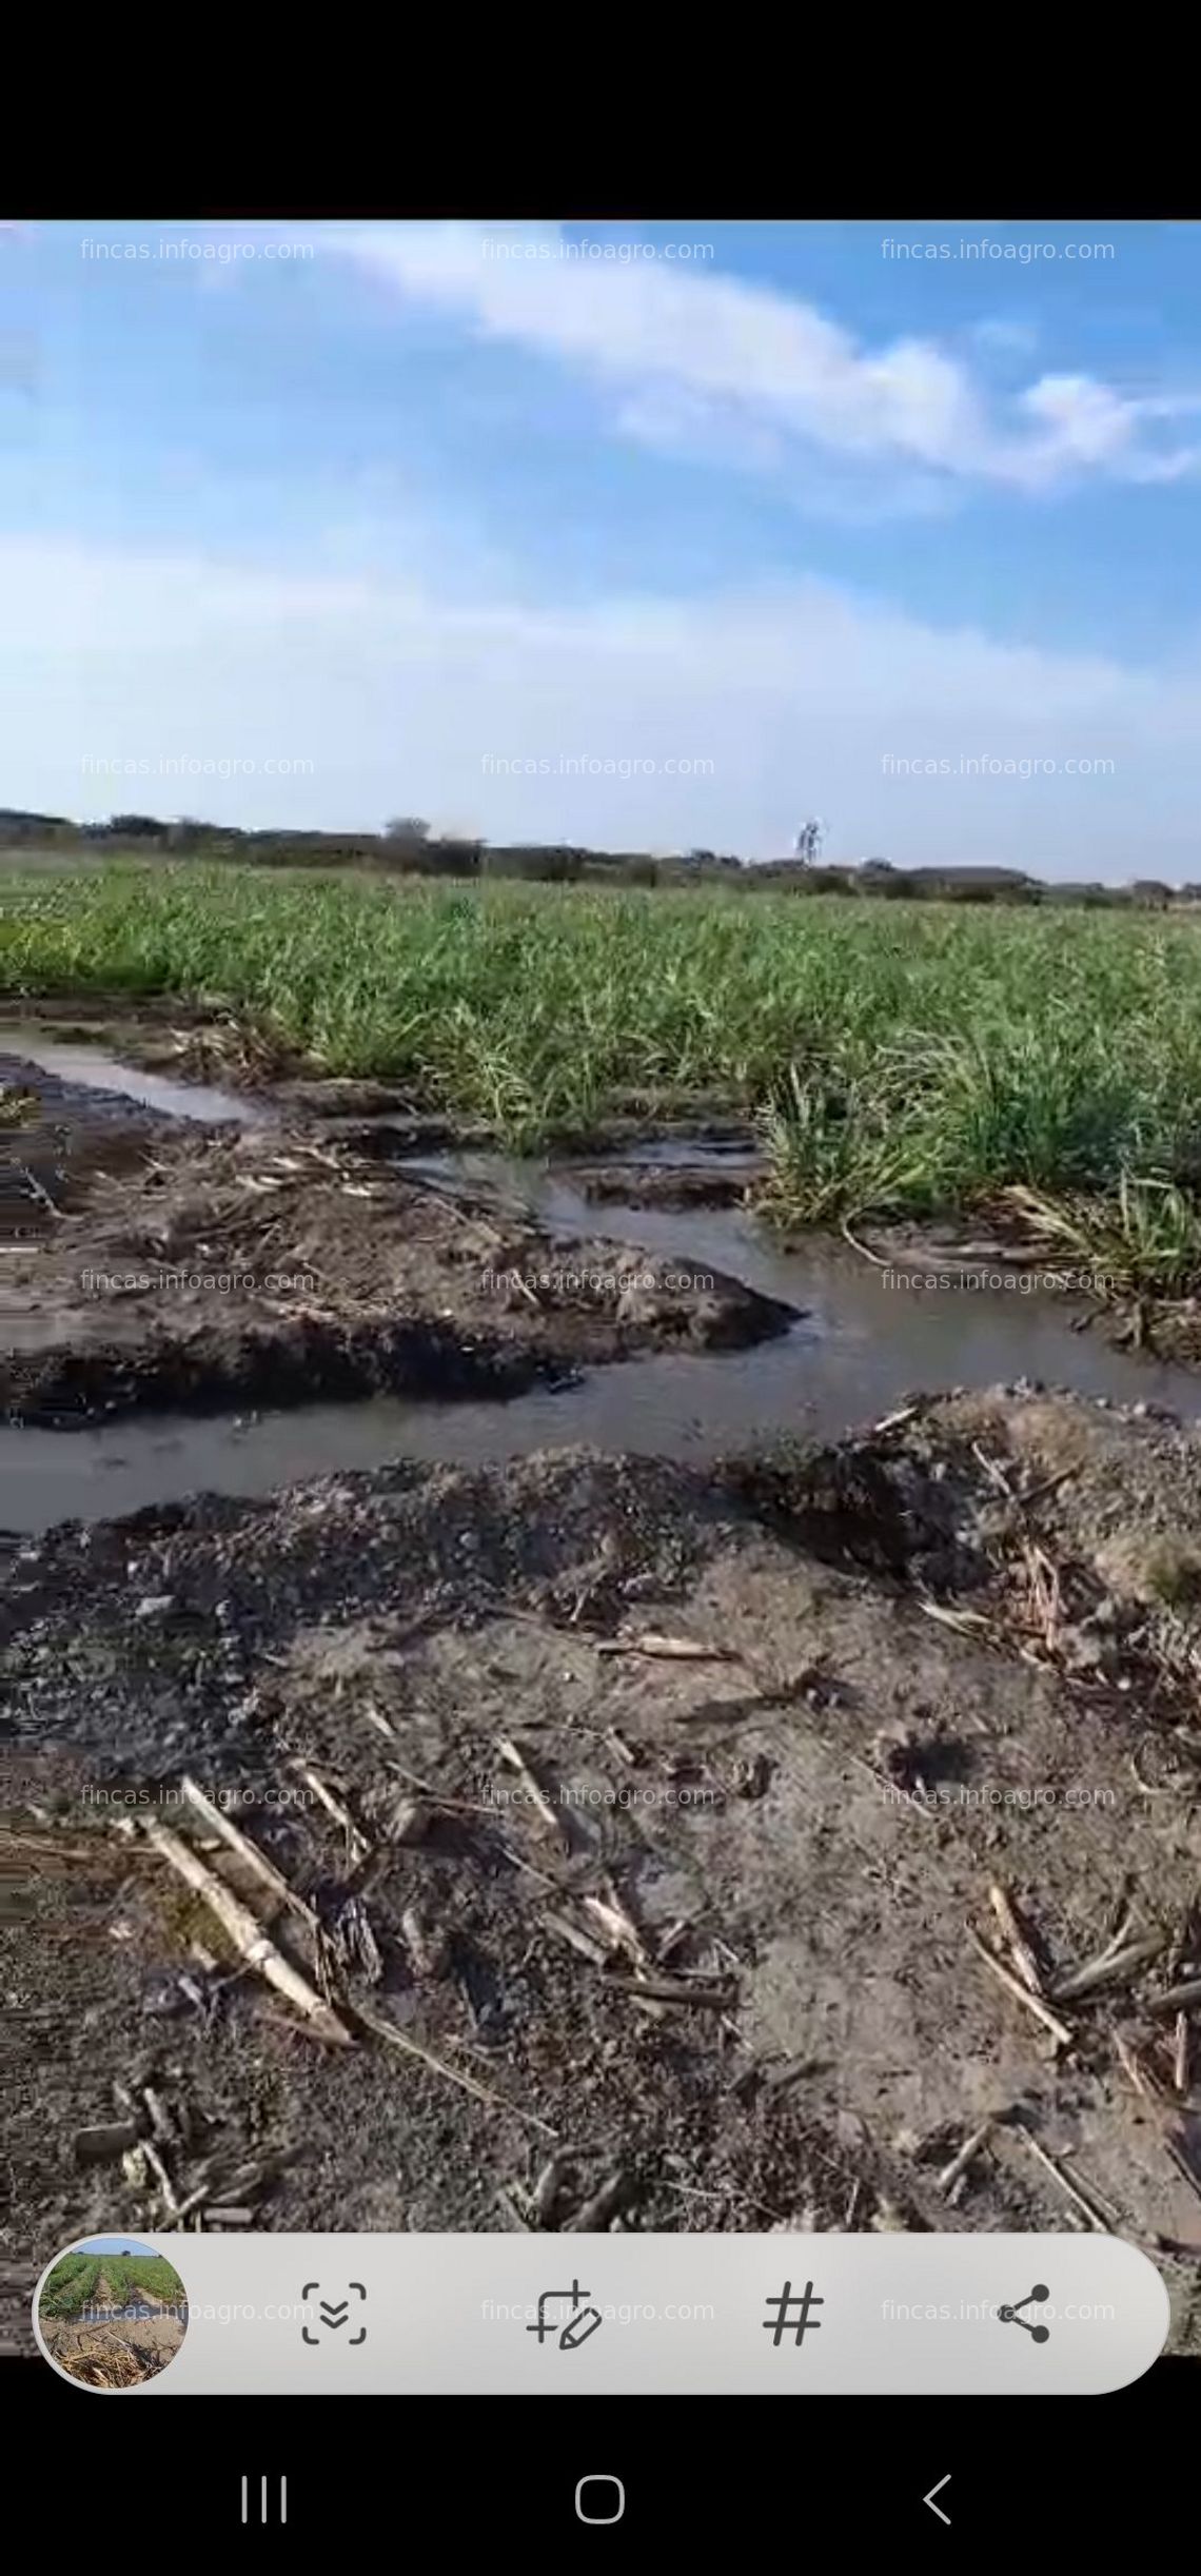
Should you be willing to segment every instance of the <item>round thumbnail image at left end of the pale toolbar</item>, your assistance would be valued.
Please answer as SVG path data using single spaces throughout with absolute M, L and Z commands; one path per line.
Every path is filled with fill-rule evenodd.
M 188 2295 L 139 2236 L 85 2236 L 39 2282 L 34 2331 L 80 2388 L 144 2388 L 183 2344 Z

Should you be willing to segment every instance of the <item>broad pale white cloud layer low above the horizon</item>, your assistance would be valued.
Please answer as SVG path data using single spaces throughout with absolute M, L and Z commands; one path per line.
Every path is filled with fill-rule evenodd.
M 745 855 L 820 811 L 845 858 L 1201 876 L 1201 665 L 1021 649 L 814 582 L 562 611 L 469 600 L 428 562 L 302 574 L 36 538 L 0 538 L 0 603 L 8 804 L 299 827 L 418 811 L 490 840 Z M 961 757 L 1059 768 L 964 775 Z

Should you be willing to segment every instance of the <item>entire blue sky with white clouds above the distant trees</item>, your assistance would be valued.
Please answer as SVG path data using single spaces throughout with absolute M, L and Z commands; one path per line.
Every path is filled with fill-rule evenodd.
M 0 804 L 1201 878 L 1196 224 L 5 224 Z

